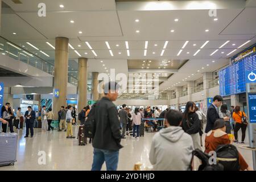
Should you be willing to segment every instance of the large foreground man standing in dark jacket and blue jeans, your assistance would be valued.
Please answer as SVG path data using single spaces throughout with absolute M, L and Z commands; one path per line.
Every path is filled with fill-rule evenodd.
M 106 83 L 105 96 L 95 106 L 92 171 L 100 171 L 104 162 L 108 171 L 117 170 L 119 149 L 122 146 L 118 114 L 113 101 L 117 100 L 118 89 L 117 82 Z

